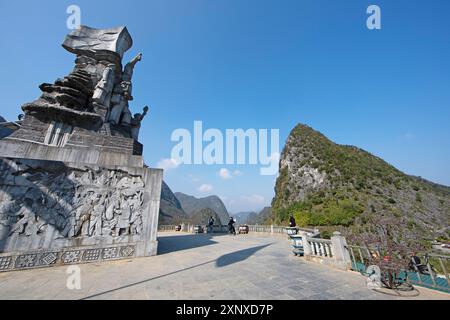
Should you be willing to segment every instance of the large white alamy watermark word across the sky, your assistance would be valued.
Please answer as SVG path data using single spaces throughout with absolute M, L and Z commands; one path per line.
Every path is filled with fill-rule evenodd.
M 279 129 L 203 130 L 202 121 L 194 121 L 193 134 L 176 129 L 171 136 L 177 144 L 171 157 L 179 165 L 261 165 L 261 175 L 278 173 L 280 160 Z M 270 140 L 270 148 L 269 148 Z

